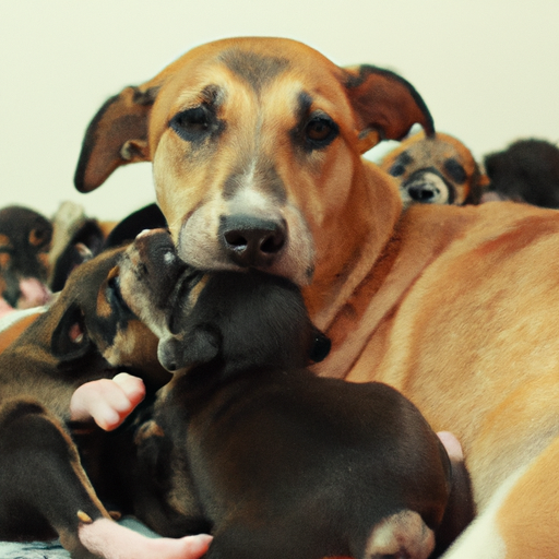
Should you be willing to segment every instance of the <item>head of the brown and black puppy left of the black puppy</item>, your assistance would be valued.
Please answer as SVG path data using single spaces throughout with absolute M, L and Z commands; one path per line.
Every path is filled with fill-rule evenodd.
M 127 307 L 116 282 L 123 250 L 103 252 L 78 266 L 41 318 L 40 331 L 61 369 L 104 362 L 162 385 L 170 377 L 157 361 L 157 338 Z

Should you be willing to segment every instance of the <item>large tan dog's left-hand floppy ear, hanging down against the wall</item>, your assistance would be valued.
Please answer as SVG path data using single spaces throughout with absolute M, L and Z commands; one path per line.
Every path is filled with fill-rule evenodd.
M 120 165 L 150 160 L 147 118 L 157 87 L 126 87 L 93 118 L 82 144 L 74 185 L 91 192 Z

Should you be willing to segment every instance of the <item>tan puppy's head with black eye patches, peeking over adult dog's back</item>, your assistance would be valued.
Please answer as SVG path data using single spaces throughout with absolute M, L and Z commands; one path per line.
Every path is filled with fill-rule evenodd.
M 404 207 L 421 204 L 477 204 L 488 179 L 471 151 L 459 140 L 438 132 L 408 138 L 381 163 L 400 181 Z

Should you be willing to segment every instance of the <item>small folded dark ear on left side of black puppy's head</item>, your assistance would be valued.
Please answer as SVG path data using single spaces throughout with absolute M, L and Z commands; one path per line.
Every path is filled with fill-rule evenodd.
M 160 340 L 157 357 L 165 369 L 174 372 L 192 365 L 213 361 L 221 347 L 216 332 L 198 326 L 189 335 Z

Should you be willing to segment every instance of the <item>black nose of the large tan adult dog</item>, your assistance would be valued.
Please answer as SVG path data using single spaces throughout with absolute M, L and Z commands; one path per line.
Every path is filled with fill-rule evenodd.
M 222 216 L 219 229 L 222 245 L 229 258 L 245 267 L 270 265 L 287 236 L 284 222 L 249 215 Z

